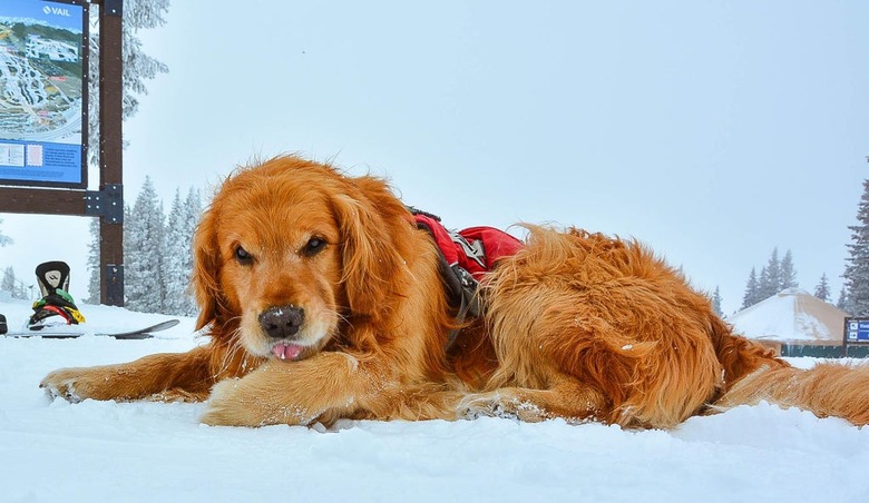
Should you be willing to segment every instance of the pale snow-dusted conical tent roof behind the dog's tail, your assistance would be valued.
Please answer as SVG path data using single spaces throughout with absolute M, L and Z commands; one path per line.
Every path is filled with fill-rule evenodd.
M 728 317 L 736 332 L 758 341 L 841 344 L 848 313 L 799 288 L 788 288 Z

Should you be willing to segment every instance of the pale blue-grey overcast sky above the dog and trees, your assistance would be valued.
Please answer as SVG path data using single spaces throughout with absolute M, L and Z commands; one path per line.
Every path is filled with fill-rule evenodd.
M 774 247 L 834 302 L 869 174 L 867 20 L 858 0 L 176 0 L 141 33 L 170 72 L 125 124 L 126 201 L 150 175 L 168 211 L 176 187 L 301 152 L 448 227 L 635 237 L 725 314 Z M 85 295 L 86 219 L 0 217 L 0 266 L 66 259 Z

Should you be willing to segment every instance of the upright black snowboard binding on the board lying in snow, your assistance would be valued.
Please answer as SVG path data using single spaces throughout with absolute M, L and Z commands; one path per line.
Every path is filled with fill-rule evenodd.
M 66 263 L 52 260 L 40 264 L 36 268 L 36 275 L 42 298 L 33 303 L 33 315 L 28 322 L 28 327 L 31 331 L 38 331 L 48 325 L 85 323 L 85 316 L 78 310 L 72 296 L 67 293 L 69 266 Z

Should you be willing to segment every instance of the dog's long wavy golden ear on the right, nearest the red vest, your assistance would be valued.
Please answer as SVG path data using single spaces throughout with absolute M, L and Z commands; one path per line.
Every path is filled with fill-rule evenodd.
M 407 282 L 401 236 L 410 231 L 407 209 L 382 180 L 346 180 L 333 198 L 341 234 L 344 289 L 354 315 L 379 318 Z

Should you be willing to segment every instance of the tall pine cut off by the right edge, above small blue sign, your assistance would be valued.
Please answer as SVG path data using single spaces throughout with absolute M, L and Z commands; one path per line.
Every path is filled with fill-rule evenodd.
M 851 230 L 849 257 L 844 266 L 846 308 L 851 316 L 869 316 L 869 179 L 863 180 L 863 194 L 857 209 L 857 225 Z

